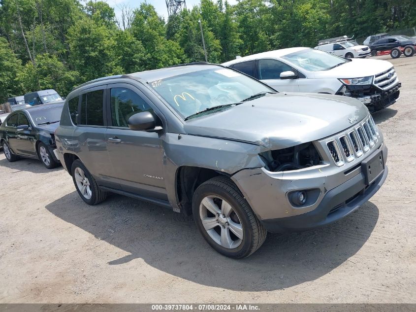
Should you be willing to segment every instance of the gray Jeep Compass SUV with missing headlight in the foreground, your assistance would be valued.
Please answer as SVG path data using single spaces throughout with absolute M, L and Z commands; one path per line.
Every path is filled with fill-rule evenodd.
M 278 93 L 212 64 L 87 82 L 66 98 L 55 134 L 87 204 L 113 192 L 193 214 L 233 258 L 267 231 L 345 217 L 387 176 L 383 136 L 359 101 Z

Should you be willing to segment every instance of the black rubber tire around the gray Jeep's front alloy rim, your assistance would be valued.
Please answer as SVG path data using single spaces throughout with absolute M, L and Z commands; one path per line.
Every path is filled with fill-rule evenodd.
M 219 197 L 225 200 L 227 203 L 229 203 L 233 212 L 235 212 L 237 215 L 243 232 L 243 238 L 237 247 L 223 247 L 221 244 L 216 243 L 205 230 L 199 211 L 202 200 L 207 196 Z M 214 177 L 199 185 L 192 197 L 192 213 L 196 226 L 198 227 L 207 243 L 209 243 L 211 247 L 226 257 L 236 259 L 248 257 L 253 252 L 255 252 L 266 239 L 267 231 L 260 224 L 253 210 L 250 208 L 250 205 L 244 199 L 237 186 L 226 177 Z M 226 224 L 226 226 L 228 226 L 228 223 Z M 219 231 L 221 231 L 221 227 L 224 228 L 224 226 L 221 226 L 220 224 L 218 226 Z

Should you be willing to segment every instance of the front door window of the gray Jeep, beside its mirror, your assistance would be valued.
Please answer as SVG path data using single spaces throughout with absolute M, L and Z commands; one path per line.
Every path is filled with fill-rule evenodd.
M 141 111 L 152 111 L 152 108 L 134 91 L 127 88 L 112 88 L 111 118 L 113 126 L 128 127 L 128 118 Z

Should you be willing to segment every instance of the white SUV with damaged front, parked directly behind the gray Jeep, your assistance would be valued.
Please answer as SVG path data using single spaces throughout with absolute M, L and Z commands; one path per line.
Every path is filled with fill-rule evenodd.
M 238 58 L 223 64 L 253 76 L 278 91 L 343 95 L 370 111 L 397 101 L 401 83 L 391 63 L 345 59 L 311 48 L 288 48 Z

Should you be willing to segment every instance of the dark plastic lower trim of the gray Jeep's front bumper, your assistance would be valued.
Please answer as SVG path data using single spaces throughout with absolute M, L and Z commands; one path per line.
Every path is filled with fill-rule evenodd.
M 264 219 L 260 220 L 260 223 L 272 233 L 308 231 L 333 223 L 358 209 L 376 194 L 383 185 L 387 173 L 388 168 L 385 166 L 383 174 L 369 186 L 365 185 L 363 174 L 357 174 L 326 193 L 319 206 L 313 211 L 286 218 Z

